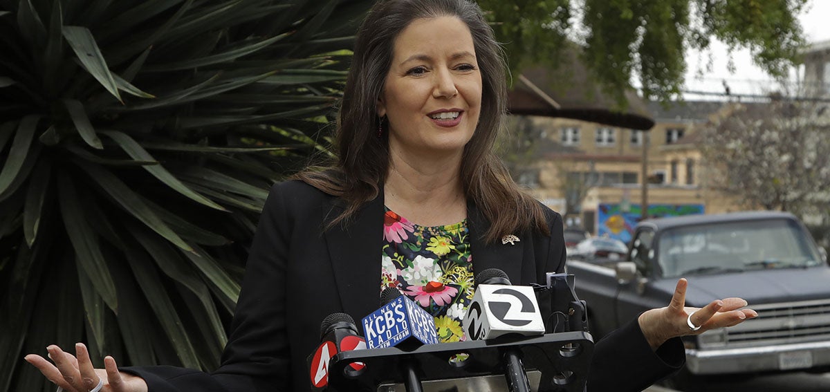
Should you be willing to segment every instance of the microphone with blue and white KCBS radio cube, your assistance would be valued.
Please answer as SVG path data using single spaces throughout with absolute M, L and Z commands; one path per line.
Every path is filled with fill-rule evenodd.
M 418 345 L 438 343 L 435 319 L 397 288 L 383 290 L 380 300 L 380 308 L 362 321 L 369 349 L 394 347 L 404 341 L 408 343 L 399 349 L 414 350 Z

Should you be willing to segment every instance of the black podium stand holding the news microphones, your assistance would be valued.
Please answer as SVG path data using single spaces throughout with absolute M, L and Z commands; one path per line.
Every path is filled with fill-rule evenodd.
M 583 392 L 593 337 L 588 332 L 541 336 L 501 336 L 488 341 L 344 351 L 329 362 L 329 390 L 404 392 L 404 373 L 414 370 L 424 392 L 507 391 L 502 364 L 505 348 L 518 348 L 534 391 Z M 362 363 L 359 370 L 353 366 Z

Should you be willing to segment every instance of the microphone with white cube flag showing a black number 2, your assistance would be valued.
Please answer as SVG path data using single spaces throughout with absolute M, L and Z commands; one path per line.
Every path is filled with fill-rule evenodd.
M 533 287 L 511 286 L 504 271 L 486 269 L 476 276 L 476 294 L 464 316 L 464 332 L 472 340 L 486 340 L 508 334 L 544 334 L 544 321 Z M 503 350 L 505 379 L 511 392 L 530 392 L 530 383 L 521 361 L 521 350 Z

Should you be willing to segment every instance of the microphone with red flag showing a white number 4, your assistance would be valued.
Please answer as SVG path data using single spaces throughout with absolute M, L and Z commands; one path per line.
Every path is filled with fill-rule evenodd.
M 320 345 L 308 356 L 312 390 L 325 390 L 329 385 L 329 361 L 339 352 L 365 350 L 366 341 L 358 334 L 354 319 L 346 313 L 332 313 L 320 323 Z M 354 362 L 346 366 L 349 375 L 359 375 L 365 364 Z

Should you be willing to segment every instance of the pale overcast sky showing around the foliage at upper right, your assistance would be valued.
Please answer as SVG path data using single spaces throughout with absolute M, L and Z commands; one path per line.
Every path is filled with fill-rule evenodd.
M 808 42 L 830 40 L 830 0 L 809 0 L 808 6 L 801 15 L 804 35 Z M 754 66 L 749 51 L 735 51 L 732 61 L 735 64 L 734 73 L 727 66 L 728 56 L 726 47 L 721 42 L 713 42 L 711 46 L 712 61 L 710 70 L 707 64 L 710 59 L 704 53 L 690 51 L 687 54 L 689 69 L 686 73 L 686 91 L 723 92 L 723 83 L 730 86 L 732 93 L 764 94 L 775 90 L 771 77 L 758 66 Z M 702 78 L 701 78 L 702 71 Z M 686 99 L 695 99 L 695 96 L 686 96 Z

